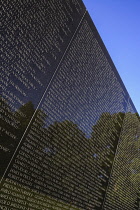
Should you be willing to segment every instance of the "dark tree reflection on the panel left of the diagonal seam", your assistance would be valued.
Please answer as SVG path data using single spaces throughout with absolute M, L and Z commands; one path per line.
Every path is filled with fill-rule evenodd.
M 29 121 L 35 110 L 32 102 L 26 103 L 15 112 L 11 111 L 11 108 L 6 103 L 6 101 L 2 100 L 1 104 L 2 118 L 0 124 L 3 128 L 1 143 L 3 143 L 7 148 L 9 148 L 9 142 L 16 144 L 17 141 L 19 141 L 19 138 L 23 135 L 23 132 L 28 126 Z M 12 141 L 12 139 L 14 139 L 14 141 Z M 14 146 L 15 145 L 13 145 L 13 147 Z M 9 149 L 11 150 L 11 148 Z

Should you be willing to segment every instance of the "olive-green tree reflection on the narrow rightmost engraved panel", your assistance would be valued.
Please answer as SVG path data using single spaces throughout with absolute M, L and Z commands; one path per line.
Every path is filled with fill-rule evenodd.
M 111 196 L 107 199 L 115 209 L 119 206 L 122 209 L 130 209 L 136 199 L 135 193 L 140 187 L 139 126 L 136 115 L 126 113 L 112 174 L 112 185 L 109 188 Z

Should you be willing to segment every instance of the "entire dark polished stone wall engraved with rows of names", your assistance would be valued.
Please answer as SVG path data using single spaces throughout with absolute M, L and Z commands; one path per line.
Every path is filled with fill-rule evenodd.
M 3 11 L 1 209 L 138 209 L 140 121 L 82 2 Z

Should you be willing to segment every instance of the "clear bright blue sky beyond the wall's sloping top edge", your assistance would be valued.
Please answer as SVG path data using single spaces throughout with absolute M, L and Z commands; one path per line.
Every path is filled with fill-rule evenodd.
M 140 0 L 83 0 L 140 114 Z

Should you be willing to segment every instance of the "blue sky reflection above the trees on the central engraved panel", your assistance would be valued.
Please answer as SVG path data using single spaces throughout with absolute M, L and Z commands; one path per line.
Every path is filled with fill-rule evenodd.
M 99 50 L 95 54 L 94 48 Z M 69 120 L 90 137 L 102 113 L 127 111 L 128 93 L 104 53 L 85 21 L 40 106 L 48 113 L 46 126 Z

